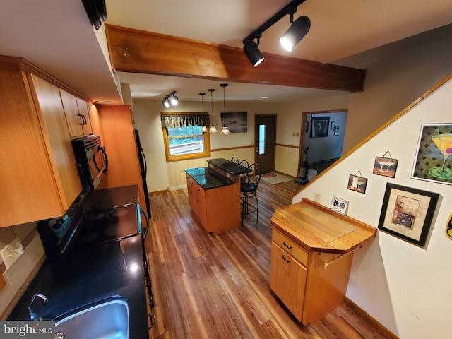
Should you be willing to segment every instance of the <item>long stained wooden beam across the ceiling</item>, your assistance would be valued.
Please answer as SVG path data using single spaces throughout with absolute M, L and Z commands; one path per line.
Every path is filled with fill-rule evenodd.
M 262 53 L 253 68 L 242 49 L 105 25 L 114 71 L 325 90 L 364 90 L 366 71 Z

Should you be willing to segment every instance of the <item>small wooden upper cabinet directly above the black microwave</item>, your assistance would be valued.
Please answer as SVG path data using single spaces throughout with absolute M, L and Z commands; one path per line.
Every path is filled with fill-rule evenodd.
M 92 133 L 87 102 L 61 88 L 59 92 L 71 138 Z

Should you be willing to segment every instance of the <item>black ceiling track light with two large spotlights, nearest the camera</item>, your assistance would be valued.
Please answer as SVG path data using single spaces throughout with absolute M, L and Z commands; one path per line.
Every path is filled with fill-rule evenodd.
M 280 37 L 280 43 L 283 47 L 289 52 L 292 51 L 293 47 L 295 47 L 295 45 L 302 40 L 304 35 L 307 34 L 309 28 L 311 28 L 311 20 L 309 20 L 307 16 L 301 16 L 297 20 L 293 20 L 294 14 L 297 11 L 297 6 L 302 4 L 304 1 L 305 0 L 292 0 L 290 4 L 287 4 L 284 8 L 278 11 L 278 13 L 263 23 L 261 27 L 252 32 L 243 40 L 244 53 L 253 67 L 258 66 L 258 64 L 261 64 L 263 61 L 263 56 L 258 48 L 262 33 L 277 23 L 280 19 L 284 18 L 287 14 L 290 15 L 290 23 L 292 23 L 292 25 L 285 32 L 285 34 Z M 257 44 L 253 41 L 254 39 L 257 39 Z

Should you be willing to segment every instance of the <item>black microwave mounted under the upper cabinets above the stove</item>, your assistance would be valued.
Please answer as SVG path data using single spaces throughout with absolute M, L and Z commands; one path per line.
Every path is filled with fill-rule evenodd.
M 90 135 L 71 140 L 73 154 L 76 157 L 78 175 L 82 192 L 94 191 L 100 179 L 107 173 L 108 158 L 100 136 Z

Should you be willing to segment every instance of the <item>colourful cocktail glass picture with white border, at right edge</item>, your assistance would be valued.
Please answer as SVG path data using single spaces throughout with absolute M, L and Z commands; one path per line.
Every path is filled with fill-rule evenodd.
M 422 124 L 411 177 L 452 185 L 452 123 Z

